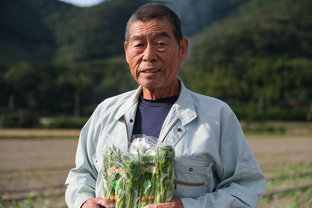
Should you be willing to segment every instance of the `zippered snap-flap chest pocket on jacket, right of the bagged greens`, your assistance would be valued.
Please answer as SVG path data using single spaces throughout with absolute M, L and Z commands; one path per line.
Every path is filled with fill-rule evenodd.
M 212 166 L 212 164 L 211 164 Z M 189 166 L 175 163 L 174 197 L 193 198 L 204 196 L 209 184 L 213 186 L 210 167 Z

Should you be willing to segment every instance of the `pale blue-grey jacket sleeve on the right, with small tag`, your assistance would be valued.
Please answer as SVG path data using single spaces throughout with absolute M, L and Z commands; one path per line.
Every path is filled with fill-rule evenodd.
M 219 161 L 213 170 L 215 191 L 197 199 L 182 198 L 185 208 L 255 208 L 266 187 L 266 179 L 243 134 L 240 123 L 227 105 L 222 107 L 216 128 Z M 216 162 L 216 161 L 215 161 Z

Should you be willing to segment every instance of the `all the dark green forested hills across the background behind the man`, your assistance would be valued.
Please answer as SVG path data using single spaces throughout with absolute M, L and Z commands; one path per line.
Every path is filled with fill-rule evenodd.
M 74 109 L 89 116 L 103 99 L 135 89 L 124 32 L 145 2 L 80 8 L 0 1 L 0 117 L 68 116 Z M 311 1 L 161 2 L 179 15 L 190 40 L 178 75 L 189 89 L 227 102 L 239 119 L 305 120 L 312 104 Z

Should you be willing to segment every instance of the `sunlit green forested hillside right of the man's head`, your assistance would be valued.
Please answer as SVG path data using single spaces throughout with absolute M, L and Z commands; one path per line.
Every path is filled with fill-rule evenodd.
M 189 89 L 242 118 L 305 119 L 312 104 L 312 2 L 253 0 L 196 34 Z M 254 112 L 254 113 L 252 113 Z

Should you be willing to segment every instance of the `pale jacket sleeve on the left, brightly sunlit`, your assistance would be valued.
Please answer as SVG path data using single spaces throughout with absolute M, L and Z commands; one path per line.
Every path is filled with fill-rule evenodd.
M 65 201 L 69 208 L 80 208 L 88 199 L 95 197 L 95 185 L 98 173 L 92 162 L 95 153 L 93 143 L 94 116 L 82 128 L 77 152 L 76 168 L 71 169 L 66 179 Z

